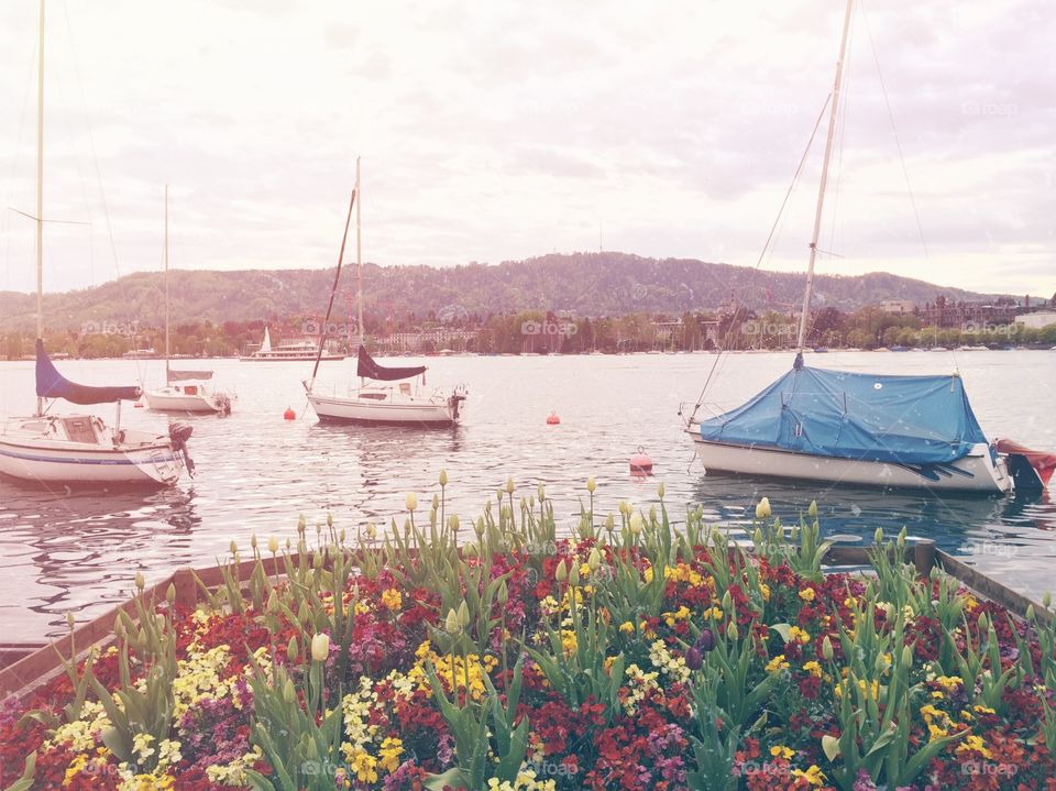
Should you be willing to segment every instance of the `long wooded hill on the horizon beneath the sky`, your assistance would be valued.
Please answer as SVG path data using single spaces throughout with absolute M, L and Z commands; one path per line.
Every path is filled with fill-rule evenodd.
M 355 267 L 342 275 L 336 310 L 348 315 L 355 294 Z M 333 270 L 174 271 L 169 274 L 172 316 L 180 321 L 274 320 L 323 312 Z M 736 295 L 749 308 L 788 310 L 802 299 L 803 274 L 778 273 L 686 259 L 645 259 L 626 253 L 543 255 L 498 265 L 471 263 L 364 267 L 369 312 L 419 317 L 568 311 L 576 316 L 617 316 L 635 311 L 681 314 L 716 308 Z M 842 277 L 818 275 L 817 307 L 854 310 L 883 299 L 925 303 L 943 294 L 953 300 L 1002 295 L 947 288 L 878 272 Z M 164 323 L 161 273 L 136 273 L 95 288 L 47 294 L 50 329 L 77 330 L 89 321 Z M 35 297 L 0 292 L 0 331 L 31 330 Z

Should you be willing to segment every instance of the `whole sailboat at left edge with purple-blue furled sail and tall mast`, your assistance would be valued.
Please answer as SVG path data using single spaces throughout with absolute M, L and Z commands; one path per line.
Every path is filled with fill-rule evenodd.
M 103 483 L 170 485 L 186 466 L 191 427 L 173 424 L 168 436 L 121 428 L 121 402 L 139 387 L 91 387 L 65 378 L 44 350 L 44 2 L 37 48 L 36 161 L 36 410 L 0 424 L 0 474 L 43 484 Z M 48 415 L 50 399 L 90 406 L 116 404 L 112 427 L 89 414 Z M 51 404 L 47 404 L 50 407 Z

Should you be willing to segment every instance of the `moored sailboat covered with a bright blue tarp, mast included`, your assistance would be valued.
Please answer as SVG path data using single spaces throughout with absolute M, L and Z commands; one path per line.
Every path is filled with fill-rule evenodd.
M 848 0 L 810 244 L 792 370 L 746 404 L 685 431 L 707 471 L 858 485 L 1003 493 L 1040 488 L 1031 464 L 999 453 L 972 414 L 964 382 L 809 367 L 803 361 L 814 262 L 854 0 Z

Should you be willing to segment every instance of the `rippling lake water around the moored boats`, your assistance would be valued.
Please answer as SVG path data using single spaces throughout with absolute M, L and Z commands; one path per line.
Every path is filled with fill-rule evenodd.
M 405 493 L 417 492 L 420 507 L 428 508 L 441 468 L 450 479 L 449 513 L 464 517 L 480 514 L 507 475 L 526 495 L 543 483 L 564 529 L 575 523 L 588 475 L 597 480 L 596 512 L 615 510 L 620 499 L 648 507 L 663 481 L 673 518 L 702 506 L 711 521 L 732 527 L 750 523 L 762 495 L 785 521 L 816 498 L 826 534 L 868 542 L 878 526 L 895 531 L 905 525 L 911 536 L 970 556 L 1018 590 L 1040 596 L 1056 587 L 1056 504 L 1047 495 L 939 497 L 704 475 L 692 464 L 678 409 L 680 402 L 696 400 L 714 360 L 433 358 L 427 361 L 429 387 L 464 382 L 470 398 L 462 426 L 432 431 L 319 425 L 300 385 L 309 363 L 212 361 L 215 382 L 237 391 L 239 400 L 229 417 L 190 418 L 194 480 L 153 493 L 47 491 L 0 480 L 0 635 L 29 641 L 62 634 L 67 611 L 82 622 L 127 598 L 138 570 L 157 580 L 180 567 L 212 563 L 231 540 L 248 552 L 254 532 L 262 541 L 296 537 L 299 514 L 309 526 L 332 514 L 350 531 L 394 515 L 402 523 Z M 807 362 L 877 373 L 959 369 L 988 437 L 1056 449 L 1054 351 L 833 352 Z M 736 406 L 791 363 L 791 353 L 724 355 L 707 400 Z M 70 361 L 58 367 L 85 384 L 157 384 L 164 376 L 160 361 Z M 321 387 L 343 389 L 354 367 L 352 360 L 323 363 Z M 33 403 L 32 363 L 0 362 L 0 415 L 29 414 Z M 287 407 L 296 420 L 283 420 Z M 112 411 L 97 408 L 108 420 Z M 559 426 L 546 425 L 551 411 Z M 164 416 L 128 405 L 123 414 L 125 425 L 164 430 Z M 628 474 L 628 459 L 639 447 L 654 464 L 646 482 Z

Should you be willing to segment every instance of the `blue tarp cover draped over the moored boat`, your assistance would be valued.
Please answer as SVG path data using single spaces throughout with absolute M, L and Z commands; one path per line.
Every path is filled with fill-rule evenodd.
M 950 462 L 986 442 L 959 376 L 793 369 L 701 422 L 705 440 L 901 464 Z

